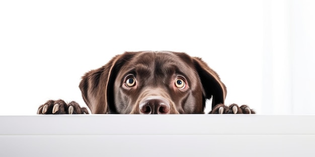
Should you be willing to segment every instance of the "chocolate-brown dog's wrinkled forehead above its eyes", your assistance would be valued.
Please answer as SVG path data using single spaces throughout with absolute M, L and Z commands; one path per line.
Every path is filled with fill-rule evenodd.
M 194 80 L 197 75 L 192 58 L 185 53 L 138 52 L 124 64 L 125 66 L 121 68 L 121 77 L 130 73 L 145 78 L 171 76 L 177 73 Z

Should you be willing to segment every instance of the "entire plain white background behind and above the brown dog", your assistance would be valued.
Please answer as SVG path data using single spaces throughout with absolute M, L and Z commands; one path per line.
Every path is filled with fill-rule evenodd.
M 313 1 L 1 1 L 0 115 L 75 100 L 91 69 L 124 51 L 202 57 L 226 103 L 313 114 Z M 209 108 L 207 108 L 209 109 Z

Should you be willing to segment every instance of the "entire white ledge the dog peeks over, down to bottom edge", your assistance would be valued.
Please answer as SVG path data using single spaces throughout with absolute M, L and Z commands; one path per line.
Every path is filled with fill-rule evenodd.
M 0 116 L 0 156 L 314 156 L 314 115 Z

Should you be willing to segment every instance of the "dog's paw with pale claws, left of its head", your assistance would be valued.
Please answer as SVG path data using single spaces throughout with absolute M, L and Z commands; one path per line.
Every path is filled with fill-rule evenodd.
M 48 100 L 45 104 L 40 105 L 37 114 L 88 114 L 89 111 L 85 107 L 74 101 L 66 104 L 63 100 Z

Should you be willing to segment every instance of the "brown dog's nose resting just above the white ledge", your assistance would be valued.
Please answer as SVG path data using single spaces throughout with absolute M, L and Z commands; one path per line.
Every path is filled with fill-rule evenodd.
M 148 97 L 139 104 L 140 114 L 169 114 L 170 103 L 164 98 Z

